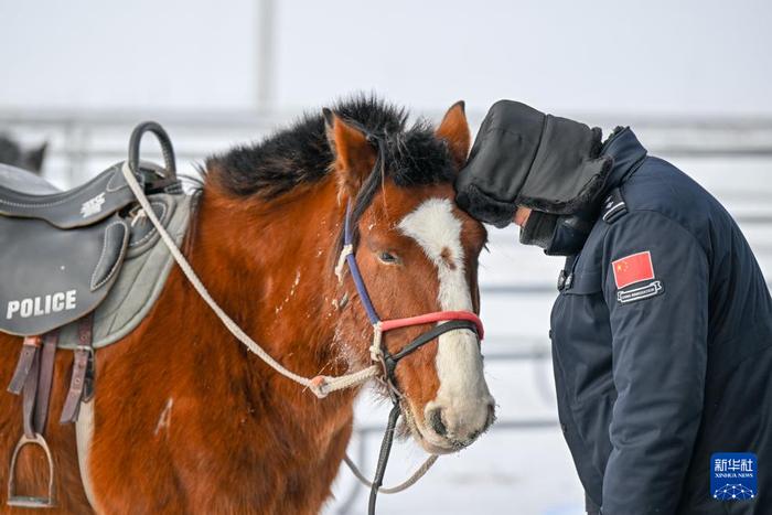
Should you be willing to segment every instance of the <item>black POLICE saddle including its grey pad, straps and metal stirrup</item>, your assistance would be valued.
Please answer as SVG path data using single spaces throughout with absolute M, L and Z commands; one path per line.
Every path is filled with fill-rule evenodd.
M 161 142 L 164 167 L 139 161 L 139 143 L 147 131 Z M 171 257 L 156 245 L 158 234 L 143 219 L 126 182 L 125 167 L 142 185 L 156 215 L 181 239 L 190 197 L 182 194 L 171 141 L 158 124 L 135 129 L 128 161 L 69 191 L 0 165 L 0 331 L 24 339 L 8 387 L 23 396 L 24 429 L 10 463 L 11 506 L 55 505 L 54 465 L 43 432 L 56 348 L 74 351 L 60 419 L 68 423 L 77 420 L 81 403 L 93 396 L 95 333 L 101 346 L 135 329 L 171 269 Z M 26 444 L 40 447 L 46 455 L 47 496 L 15 493 L 17 458 Z

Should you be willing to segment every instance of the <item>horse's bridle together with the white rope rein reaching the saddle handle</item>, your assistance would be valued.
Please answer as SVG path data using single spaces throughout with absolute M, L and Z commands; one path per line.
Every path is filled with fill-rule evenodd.
M 429 459 L 416 471 L 407 481 L 400 485 L 382 489 L 384 474 L 386 472 L 386 465 L 388 463 L 389 453 L 392 450 L 392 443 L 394 441 L 394 431 L 396 429 L 397 419 L 400 415 L 400 399 L 401 394 L 396 385 L 396 366 L 400 360 L 414 353 L 421 346 L 428 344 L 432 340 L 439 337 L 449 331 L 458 330 L 469 330 L 475 332 L 478 335 L 478 341 L 483 339 L 483 324 L 480 318 L 469 311 L 437 311 L 431 313 L 425 313 L 417 316 L 409 316 L 403 319 L 392 319 L 392 320 L 380 320 L 377 315 L 375 307 L 367 293 L 367 288 L 365 286 L 360 267 L 356 264 L 354 238 L 352 230 L 352 210 L 351 202 L 346 206 L 346 215 L 344 222 L 344 240 L 343 249 L 339 258 L 337 266 L 335 267 L 335 275 L 339 281 L 343 280 L 343 268 L 347 265 L 351 272 L 352 279 L 354 280 L 354 286 L 360 296 L 360 300 L 367 312 L 367 318 L 373 324 L 373 342 L 369 347 L 371 358 L 373 360 L 373 365 L 361 371 L 344 374 L 341 376 L 325 376 L 318 375 L 314 377 L 303 377 L 296 374 L 287 368 L 285 368 L 279 362 L 274 360 L 260 345 L 255 342 L 228 314 L 217 304 L 217 302 L 212 298 L 206 287 L 203 285 L 199 276 L 191 267 L 190 262 L 182 255 L 176 244 L 169 235 L 163 224 L 159 221 L 156 212 L 150 206 L 150 202 L 144 194 L 142 185 L 137 181 L 137 174 L 139 174 L 139 146 L 140 140 L 146 131 L 151 131 L 161 143 L 163 150 L 164 159 L 167 155 L 173 155 L 171 152 L 171 140 L 167 132 L 158 125 L 146 125 L 142 124 L 138 126 L 131 133 L 131 139 L 129 142 L 129 159 L 124 163 L 121 172 L 126 178 L 126 182 L 131 189 L 132 193 L 137 197 L 140 206 L 144 211 L 148 219 L 153 224 L 156 230 L 160 235 L 164 245 L 169 248 L 170 254 L 180 266 L 180 269 L 191 282 L 193 288 L 196 290 L 199 296 L 206 302 L 206 304 L 214 311 L 221 322 L 225 328 L 238 340 L 240 341 L 250 352 L 260 357 L 268 366 L 274 368 L 277 373 L 287 377 L 290 380 L 298 383 L 301 386 L 310 389 L 318 398 L 322 399 L 326 397 L 330 393 L 352 388 L 360 386 L 369 379 L 378 378 L 383 380 L 388 387 L 389 396 L 392 398 L 393 407 L 388 416 L 388 423 L 386 431 L 384 433 L 383 441 L 380 443 L 380 451 L 378 454 L 378 464 L 376 468 L 375 479 L 373 482 L 368 482 L 362 472 L 354 465 L 353 461 L 346 455 L 345 462 L 351 468 L 354 475 L 366 486 L 371 487 L 369 494 L 369 505 L 368 513 L 373 515 L 375 513 L 375 501 L 378 492 L 384 493 L 397 493 L 403 490 L 408 489 L 415 484 L 429 468 L 437 461 L 437 455 L 432 454 Z M 371 142 L 376 142 L 378 148 L 378 155 L 374 167 L 374 172 L 377 168 L 380 168 L 382 172 L 385 167 L 385 141 L 377 136 L 368 136 Z M 168 161 L 168 159 L 165 159 Z M 141 175 L 139 175 L 141 176 Z M 440 323 L 443 322 L 443 323 Z M 409 328 L 414 325 L 426 325 L 430 323 L 438 323 L 429 331 L 421 333 L 410 343 L 405 345 L 397 353 L 392 354 L 385 346 L 383 341 L 383 334 L 388 331 L 394 331 L 398 329 Z

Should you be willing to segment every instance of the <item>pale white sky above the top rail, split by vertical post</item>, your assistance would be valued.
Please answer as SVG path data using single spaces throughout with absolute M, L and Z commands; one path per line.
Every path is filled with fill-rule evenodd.
M 772 115 L 772 2 L 276 0 L 276 107 Z M 119 6 L 119 7 L 118 7 Z M 251 108 L 258 2 L 0 0 L 0 108 Z

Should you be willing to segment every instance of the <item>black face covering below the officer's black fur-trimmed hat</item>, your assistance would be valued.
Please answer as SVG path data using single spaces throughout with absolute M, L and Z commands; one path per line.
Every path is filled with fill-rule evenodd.
M 587 213 L 551 215 L 532 211 L 521 229 L 521 243 L 542 247 L 547 256 L 572 256 L 585 246 L 592 225 Z

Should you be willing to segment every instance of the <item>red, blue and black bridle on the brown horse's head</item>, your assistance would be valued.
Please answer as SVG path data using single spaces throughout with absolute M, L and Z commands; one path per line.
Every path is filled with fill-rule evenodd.
M 375 142 L 378 149 L 378 155 L 373 167 L 372 173 L 378 173 L 380 170 L 383 172 L 383 167 L 385 165 L 385 152 L 386 144 L 383 137 L 375 135 L 368 135 L 367 140 L 371 143 Z M 365 286 L 364 278 L 360 271 L 360 267 L 356 262 L 356 254 L 354 246 L 354 236 L 352 230 L 352 208 L 351 201 L 346 205 L 345 221 L 343 224 L 343 249 L 341 250 L 341 256 L 335 267 L 335 275 L 339 281 L 343 280 L 343 268 L 345 265 L 349 267 L 352 279 L 354 281 L 354 287 L 360 297 L 360 302 L 367 313 L 371 324 L 373 325 L 373 342 L 369 346 L 369 355 L 374 363 L 377 363 L 382 367 L 382 374 L 377 378 L 380 379 L 389 393 L 392 399 L 392 410 L 388 415 L 388 423 L 386 425 L 386 431 L 384 432 L 383 440 L 380 442 L 380 451 L 378 453 L 378 463 L 375 470 L 375 479 L 371 484 L 369 492 L 369 505 L 368 514 L 375 514 L 375 502 L 378 494 L 378 490 L 383 485 L 384 474 L 386 473 L 386 465 L 388 463 L 388 458 L 392 451 L 392 443 L 394 441 L 394 431 L 396 429 L 397 420 L 400 415 L 400 399 L 401 394 L 397 387 L 396 379 L 396 368 L 397 364 L 408 355 L 418 351 L 423 345 L 430 343 L 432 340 L 439 337 L 440 335 L 458 330 L 469 330 L 473 331 L 478 337 L 478 342 L 481 342 L 484 336 L 482 320 L 470 311 L 436 311 L 431 313 L 425 313 L 417 316 L 409 316 L 404 319 L 392 319 L 382 320 L 373 305 L 373 301 L 367 293 L 367 288 Z M 444 322 L 444 323 L 440 323 Z M 405 345 L 400 351 L 396 353 L 390 353 L 384 343 L 384 333 L 388 331 L 394 331 L 397 329 L 410 328 L 415 325 L 427 325 L 431 323 L 438 323 L 429 331 L 426 331 L 415 337 L 410 343 Z

